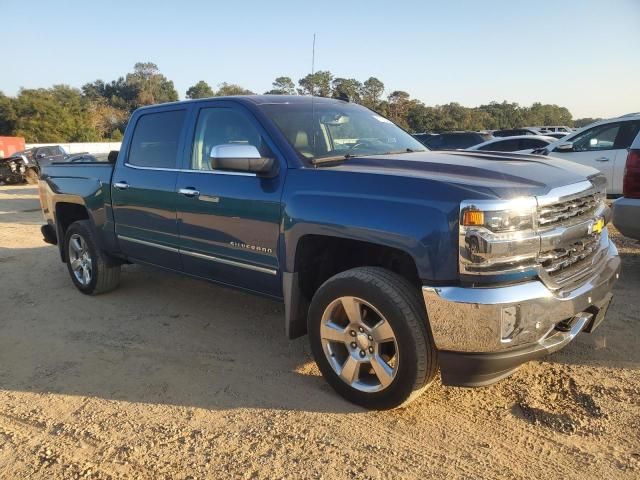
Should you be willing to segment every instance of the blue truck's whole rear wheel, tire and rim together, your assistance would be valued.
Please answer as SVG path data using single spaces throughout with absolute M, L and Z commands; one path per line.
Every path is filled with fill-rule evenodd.
M 118 286 L 120 265 L 114 265 L 98 248 L 88 220 L 80 220 L 69 226 L 64 248 L 71 280 L 82 293 L 97 295 Z

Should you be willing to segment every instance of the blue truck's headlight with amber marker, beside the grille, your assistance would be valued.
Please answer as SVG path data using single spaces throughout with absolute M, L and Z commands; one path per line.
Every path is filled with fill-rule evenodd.
M 460 206 L 460 272 L 496 274 L 531 267 L 540 252 L 533 197 Z

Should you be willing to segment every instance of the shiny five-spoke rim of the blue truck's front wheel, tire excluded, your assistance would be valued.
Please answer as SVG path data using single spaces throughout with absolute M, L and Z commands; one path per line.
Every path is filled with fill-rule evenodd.
M 387 388 L 398 372 L 398 343 L 388 320 L 373 305 L 340 297 L 320 323 L 322 349 L 333 371 L 362 392 Z

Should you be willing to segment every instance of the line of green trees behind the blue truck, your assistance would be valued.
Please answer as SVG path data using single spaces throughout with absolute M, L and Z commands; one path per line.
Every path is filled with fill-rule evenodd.
M 411 132 L 484 130 L 527 125 L 583 126 L 595 119 L 573 120 L 565 107 L 534 103 L 491 102 L 478 107 L 458 103 L 429 106 L 408 92 L 387 93 L 375 77 L 359 81 L 334 76 L 329 71 L 308 74 L 294 82 L 282 76 L 273 81 L 274 95 L 317 95 L 348 99 L 388 117 Z M 185 92 L 187 98 L 253 95 L 254 92 L 223 82 L 212 88 L 200 80 Z M 129 115 L 136 108 L 179 99 L 173 81 L 154 63 L 136 63 L 133 72 L 116 80 L 95 80 L 82 88 L 54 85 L 21 89 L 17 96 L 0 92 L 0 135 L 25 137 L 29 143 L 93 142 L 120 140 Z

